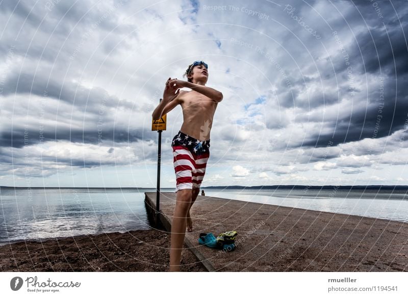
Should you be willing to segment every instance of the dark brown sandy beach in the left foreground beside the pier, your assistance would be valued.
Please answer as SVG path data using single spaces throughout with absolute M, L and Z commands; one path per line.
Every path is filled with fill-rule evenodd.
M 164 231 L 84 235 L 0 246 L 0 271 L 167 271 L 170 236 Z M 182 271 L 207 271 L 187 249 Z

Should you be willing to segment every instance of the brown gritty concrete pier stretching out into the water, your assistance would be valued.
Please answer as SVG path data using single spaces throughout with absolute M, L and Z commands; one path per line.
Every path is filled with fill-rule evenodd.
M 156 192 L 145 193 L 156 216 Z M 175 193 L 160 196 L 171 230 Z M 150 210 L 149 210 L 150 209 Z M 408 224 L 399 221 L 198 196 L 185 243 L 209 271 L 408 271 Z M 198 244 L 199 233 L 237 231 L 237 249 Z

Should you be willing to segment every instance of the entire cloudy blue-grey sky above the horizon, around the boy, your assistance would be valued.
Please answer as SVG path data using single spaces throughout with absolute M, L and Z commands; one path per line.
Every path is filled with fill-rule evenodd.
M 220 90 L 210 185 L 407 185 L 406 1 L 0 2 L 0 185 L 155 187 L 168 77 Z M 162 186 L 174 187 L 167 115 Z

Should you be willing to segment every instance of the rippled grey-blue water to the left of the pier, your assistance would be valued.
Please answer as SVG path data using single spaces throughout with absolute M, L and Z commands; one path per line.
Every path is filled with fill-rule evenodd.
M 79 188 L 33 189 L 29 193 L 27 189 L 2 189 L 0 244 L 150 229 L 144 191 Z

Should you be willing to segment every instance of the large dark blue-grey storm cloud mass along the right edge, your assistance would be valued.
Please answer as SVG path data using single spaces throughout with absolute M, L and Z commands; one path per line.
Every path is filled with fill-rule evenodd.
M 374 13 L 376 16 L 372 4 L 360 5 L 364 6 L 367 15 Z M 381 8 L 383 12 L 391 9 L 389 4 L 383 2 Z M 405 18 L 401 21 L 402 24 L 394 18 L 392 23 L 388 21 L 388 27 L 381 23 L 381 26 L 370 30 L 367 28 L 356 35 L 356 40 L 347 47 L 351 68 L 347 69 L 344 59 L 339 56 L 334 59 L 337 77 L 348 82 L 347 86 L 340 87 L 341 96 L 351 98 L 350 105 L 353 104 L 355 108 L 337 121 L 325 122 L 326 128 L 332 128 L 330 133 L 312 133 L 311 138 L 302 145 L 324 147 L 330 141 L 337 145 L 364 138 L 381 138 L 403 129 L 408 117 L 408 46 L 405 37 L 408 22 Z M 350 74 L 348 70 L 353 77 L 347 76 Z M 376 81 L 367 81 L 368 93 L 365 97 L 366 93 L 361 91 L 365 86 L 355 85 L 355 80 L 366 80 L 372 76 L 376 77 Z M 354 82 L 350 82 L 350 79 Z M 347 88 L 353 83 L 354 96 L 351 97 L 353 94 Z M 381 100 L 380 91 L 384 91 L 384 100 Z

